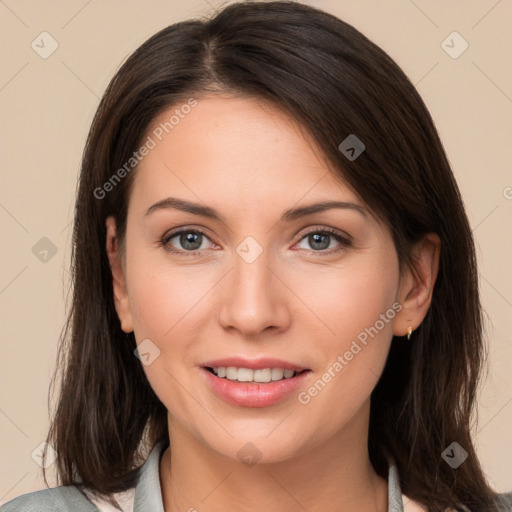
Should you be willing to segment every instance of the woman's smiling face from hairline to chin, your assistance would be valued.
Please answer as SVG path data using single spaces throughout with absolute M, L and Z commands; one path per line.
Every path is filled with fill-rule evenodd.
M 124 299 L 116 288 L 171 436 L 260 462 L 339 436 L 365 441 L 401 308 L 388 228 L 274 107 L 203 98 L 166 134 L 176 109 L 148 132 L 156 146 L 130 197 Z M 342 204 L 301 210 L 330 201 Z M 215 365 L 232 367 L 229 378 Z M 307 371 L 284 378 L 286 367 Z

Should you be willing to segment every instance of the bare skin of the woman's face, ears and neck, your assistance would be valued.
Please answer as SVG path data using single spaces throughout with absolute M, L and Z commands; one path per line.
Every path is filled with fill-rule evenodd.
M 367 450 L 370 394 L 393 334 L 427 313 L 439 239 L 428 235 L 414 249 L 417 274 L 400 273 L 389 228 L 320 154 L 276 107 L 202 97 L 140 163 L 124 250 L 107 219 L 121 326 L 160 350 L 144 369 L 168 410 L 170 449 L 160 462 L 168 512 L 387 510 L 387 482 Z M 146 215 L 169 196 L 208 205 L 224 221 L 171 208 Z M 331 209 L 279 222 L 286 209 L 329 199 L 366 213 Z M 199 255 L 187 256 L 179 236 L 167 246 L 185 254 L 162 245 L 180 227 L 206 233 Z M 351 244 L 327 236 L 319 249 L 304 235 L 322 228 Z M 236 252 L 247 236 L 263 249 L 252 263 Z M 202 378 L 207 360 L 270 356 L 311 369 L 307 390 L 396 302 L 402 310 L 307 405 L 296 393 L 269 407 L 231 405 Z M 261 453 L 251 467 L 237 456 L 247 442 Z

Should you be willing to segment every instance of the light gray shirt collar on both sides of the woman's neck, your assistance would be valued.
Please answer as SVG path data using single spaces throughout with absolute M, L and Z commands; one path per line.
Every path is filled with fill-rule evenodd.
M 164 512 L 162 491 L 160 488 L 160 457 L 168 442 L 157 443 L 140 470 L 140 477 L 135 488 L 133 512 Z M 388 473 L 388 512 L 403 512 L 402 491 L 398 471 L 392 461 Z

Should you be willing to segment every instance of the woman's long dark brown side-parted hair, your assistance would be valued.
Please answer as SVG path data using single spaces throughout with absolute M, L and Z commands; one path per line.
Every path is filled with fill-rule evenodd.
M 498 510 L 470 432 L 486 356 L 475 248 L 434 122 L 381 48 L 335 16 L 288 1 L 235 3 L 160 30 L 123 63 L 100 101 L 81 164 L 72 303 L 52 379 L 62 371 L 47 438 L 58 454 L 57 481 L 115 505 L 108 496 L 136 485 L 143 450 L 168 436 L 167 410 L 116 315 L 106 253 L 109 215 L 124 240 L 136 168 L 105 197 L 94 191 L 133 157 L 159 114 L 207 93 L 263 100 L 297 120 L 333 172 L 390 227 L 401 265 L 414 266 L 414 244 L 438 234 L 429 311 L 411 342 L 393 338 L 372 393 L 370 460 L 387 478 L 391 456 L 402 491 L 429 511 Z M 353 161 L 338 148 L 350 134 L 366 148 Z M 453 441 L 468 453 L 456 470 L 441 457 Z

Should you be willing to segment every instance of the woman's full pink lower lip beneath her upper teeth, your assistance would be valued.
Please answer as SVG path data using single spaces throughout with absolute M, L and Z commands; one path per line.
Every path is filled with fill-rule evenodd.
M 271 382 L 238 382 L 217 377 L 201 368 L 212 391 L 226 402 L 242 407 L 267 407 L 284 400 L 297 391 L 308 378 L 310 370 L 295 377 Z

